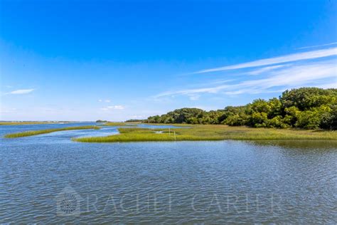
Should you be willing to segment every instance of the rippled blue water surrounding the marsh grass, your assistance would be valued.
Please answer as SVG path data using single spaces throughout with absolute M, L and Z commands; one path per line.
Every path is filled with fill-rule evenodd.
M 336 142 L 70 140 L 116 133 L 1 138 L 0 223 L 337 223 Z

